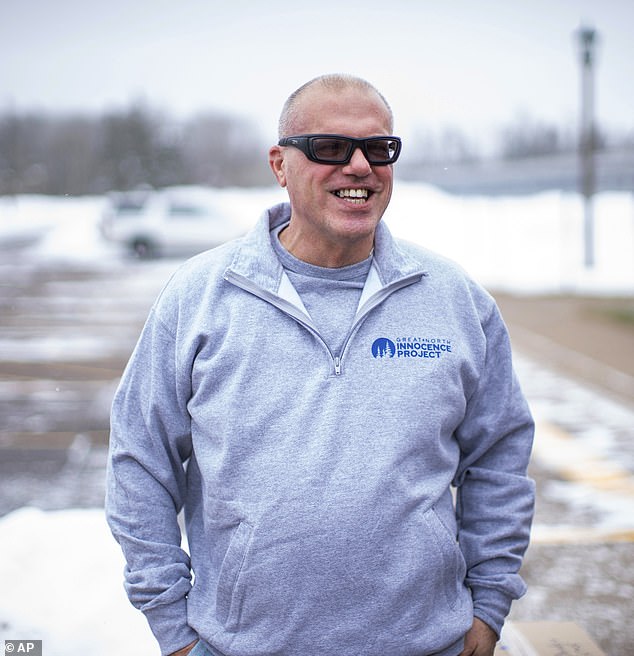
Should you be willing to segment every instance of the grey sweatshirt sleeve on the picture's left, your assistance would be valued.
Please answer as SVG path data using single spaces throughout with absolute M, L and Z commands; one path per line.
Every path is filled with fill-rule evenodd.
M 196 639 L 187 624 L 191 569 L 177 521 L 191 453 L 187 383 L 177 370 L 175 340 L 153 311 L 113 401 L 106 486 L 126 592 L 162 654 Z

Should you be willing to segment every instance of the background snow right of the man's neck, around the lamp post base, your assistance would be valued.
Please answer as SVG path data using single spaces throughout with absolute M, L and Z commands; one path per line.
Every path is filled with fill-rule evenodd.
M 594 202 L 595 266 L 583 263 L 577 194 L 459 197 L 400 186 L 386 221 L 394 233 L 459 262 L 490 288 L 519 293 L 634 293 L 634 197 Z

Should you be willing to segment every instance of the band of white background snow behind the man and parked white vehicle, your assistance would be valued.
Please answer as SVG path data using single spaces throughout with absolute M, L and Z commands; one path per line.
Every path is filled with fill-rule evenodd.
M 214 192 L 227 214 L 255 222 L 285 200 L 281 189 Z M 108 266 L 118 256 L 97 229 L 103 198 L 0 199 L 0 246 L 31 240 L 33 256 Z M 583 263 L 583 204 L 557 191 L 534 196 L 451 196 L 400 182 L 385 220 L 392 231 L 459 262 L 489 287 L 522 293 L 634 293 L 634 196 L 594 201 L 595 266 Z

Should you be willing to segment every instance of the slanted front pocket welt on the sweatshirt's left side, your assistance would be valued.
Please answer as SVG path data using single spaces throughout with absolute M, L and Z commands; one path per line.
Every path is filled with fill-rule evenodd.
M 235 628 L 237 624 L 240 599 L 236 594 L 236 587 L 252 534 L 253 529 L 249 524 L 246 522 L 238 524 L 220 567 L 216 590 L 216 616 L 228 630 Z

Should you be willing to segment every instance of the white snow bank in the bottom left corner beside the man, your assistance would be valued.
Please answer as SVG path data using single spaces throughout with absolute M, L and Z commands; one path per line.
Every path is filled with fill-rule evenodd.
M 23 508 L 0 521 L 0 545 L 0 642 L 42 640 L 47 656 L 157 654 L 103 510 Z

